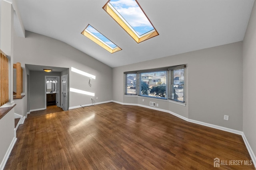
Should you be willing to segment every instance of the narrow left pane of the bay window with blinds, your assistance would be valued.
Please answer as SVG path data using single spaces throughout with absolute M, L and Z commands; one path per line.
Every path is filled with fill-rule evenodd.
M 136 73 L 124 74 L 125 92 L 124 94 L 137 94 L 136 93 Z

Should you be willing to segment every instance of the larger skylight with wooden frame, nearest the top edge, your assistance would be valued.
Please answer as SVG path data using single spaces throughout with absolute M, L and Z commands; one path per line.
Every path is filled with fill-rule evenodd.
M 103 9 L 137 43 L 159 35 L 136 0 L 109 0 Z

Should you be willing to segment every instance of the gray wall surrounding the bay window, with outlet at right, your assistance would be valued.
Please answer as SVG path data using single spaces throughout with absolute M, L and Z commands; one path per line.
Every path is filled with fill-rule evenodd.
M 123 72 L 187 65 L 186 106 L 124 96 Z M 242 131 L 242 42 L 113 68 L 113 100 L 172 111 L 189 119 Z M 225 121 L 224 115 L 229 115 Z

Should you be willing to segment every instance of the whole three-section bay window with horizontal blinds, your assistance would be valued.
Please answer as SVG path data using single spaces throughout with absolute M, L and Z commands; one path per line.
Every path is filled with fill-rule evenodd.
M 124 72 L 125 94 L 185 103 L 186 65 Z

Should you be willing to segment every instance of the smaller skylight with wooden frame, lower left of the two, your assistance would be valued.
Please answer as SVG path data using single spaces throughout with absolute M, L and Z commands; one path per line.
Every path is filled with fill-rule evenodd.
M 102 35 L 90 24 L 88 24 L 87 27 L 84 29 L 84 31 L 82 31 L 82 34 L 87 38 L 89 38 L 90 40 L 97 43 L 98 45 L 100 45 L 102 48 L 106 49 L 110 53 L 114 53 L 122 50 L 120 49 L 120 47 L 118 47 L 116 44 L 110 41 L 107 37 Z

